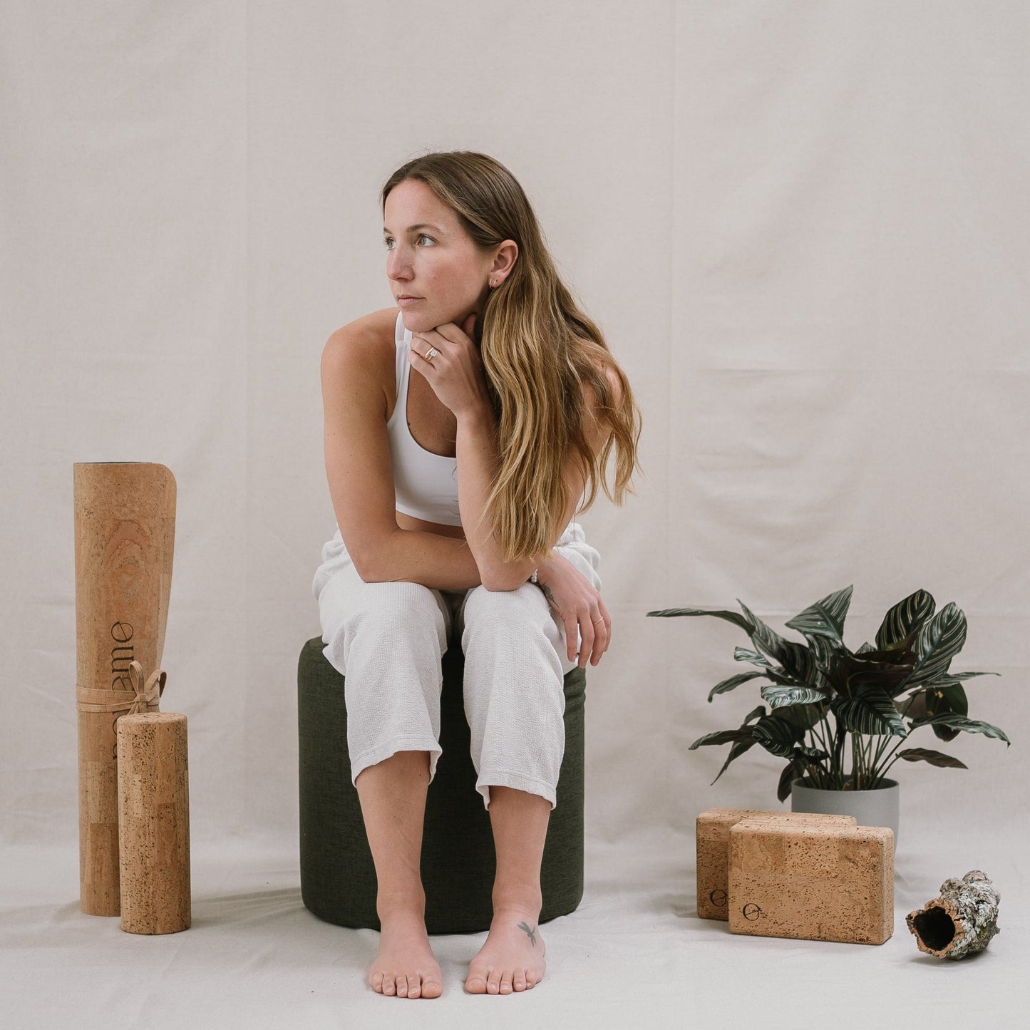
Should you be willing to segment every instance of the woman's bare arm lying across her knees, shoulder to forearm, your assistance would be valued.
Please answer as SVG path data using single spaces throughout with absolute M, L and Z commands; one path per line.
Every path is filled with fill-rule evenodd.
M 394 353 L 384 346 L 396 321 L 393 308 L 359 318 L 337 330 L 322 352 L 325 475 L 337 524 L 367 583 L 478 586 L 479 569 L 464 540 L 397 524 L 385 393 L 385 384 L 394 383 Z

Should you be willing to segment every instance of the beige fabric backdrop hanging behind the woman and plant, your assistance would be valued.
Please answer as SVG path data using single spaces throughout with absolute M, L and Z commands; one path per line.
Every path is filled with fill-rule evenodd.
M 739 634 L 644 613 L 741 597 L 781 625 L 854 583 L 853 645 L 925 587 L 969 618 L 956 667 L 1003 674 L 971 714 L 1012 748 L 963 736 L 969 771 L 899 774 L 914 848 L 954 843 L 942 803 L 974 830 L 934 884 L 1007 850 L 1030 782 L 1028 36 L 1018 0 L 0 0 L 2 840 L 76 836 L 72 464 L 154 460 L 178 480 L 164 707 L 190 718 L 195 839 L 291 846 L 333 531 L 321 346 L 389 303 L 384 178 L 474 148 L 526 187 L 644 410 L 640 495 L 584 519 L 615 622 L 594 846 L 686 877 L 699 810 L 776 804 L 779 760 L 710 788 L 722 750 L 687 753 L 755 703 L 705 702 Z

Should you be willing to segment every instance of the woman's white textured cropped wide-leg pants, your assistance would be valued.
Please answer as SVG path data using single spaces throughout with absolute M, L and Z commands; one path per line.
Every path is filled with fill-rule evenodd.
M 600 588 L 599 555 L 570 523 L 555 549 Z M 442 591 L 417 583 L 366 583 L 340 530 L 322 548 L 312 584 L 324 654 L 344 675 L 351 780 L 398 751 L 440 757 L 440 659 L 452 629 L 465 652 L 465 712 L 476 789 L 513 787 L 555 803 L 564 754 L 562 678 L 575 667 L 564 625 L 543 591 Z

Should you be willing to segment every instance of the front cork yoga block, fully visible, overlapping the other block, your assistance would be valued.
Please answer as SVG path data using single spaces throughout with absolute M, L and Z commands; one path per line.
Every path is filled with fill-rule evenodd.
M 894 932 L 894 833 L 744 819 L 729 831 L 729 928 L 882 945 Z

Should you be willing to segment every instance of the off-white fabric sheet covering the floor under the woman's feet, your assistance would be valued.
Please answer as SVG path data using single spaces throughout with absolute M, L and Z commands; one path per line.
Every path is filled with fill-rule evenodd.
M 1002 932 L 962 962 L 922 955 L 904 916 L 967 871 L 970 852 L 1001 890 Z M 901 839 L 894 935 L 882 947 L 734 936 L 695 915 L 692 839 L 592 842 L 583 902 L 543 926 L 548 970 L 537 988 L 465 994 L 483 935 L 440 936 L 444 994 L 432 1001 L 366 985 L 377 934 L 304 908 L 288 842 L 195 849 L 193 927 L 160 937 L 79 913 L 74 847 L 7 848 L 0 862 L 0 1025 L 16 1030 L 1005 1028 L 1030 1015 L 1026 866 L 983 834 Z

